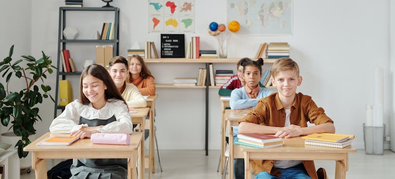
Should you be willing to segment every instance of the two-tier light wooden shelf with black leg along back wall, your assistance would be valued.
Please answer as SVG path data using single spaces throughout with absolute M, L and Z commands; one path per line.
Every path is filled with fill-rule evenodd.
M 253 58 L 251 58 L 253 59 Z M 145 58 L 144 62 L 146 63 L 205 63 L 207 74 L 209 74 L 209 64 L 210 63 L 234 63 L 236 64 L 240 58 L 196 58 L 196 59 L 187 59 L 187 58 Z M 253 59 L 256 60 L 256 59 Z M 277 59 L 264 59 L 264 63 L 273 63 Z M 264 64 L 264 65 L 265 65 Z M 209 88 L 220 88 L 221 86 L 210 86 L 210 76 L 206 76 L 206 82 L 204 86 L 174 86 L 173 83 L 155 83 L 155 87 L 157 88 L 205 88 L 206 89 L 206 137 L 205 137 L 205 150 L 206 155 L 208 155 L 208 96 L 209 96 Z M 274 87 L 268 87 L 274 88 Z

